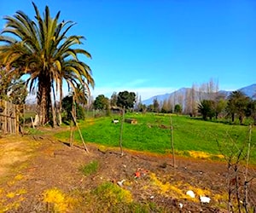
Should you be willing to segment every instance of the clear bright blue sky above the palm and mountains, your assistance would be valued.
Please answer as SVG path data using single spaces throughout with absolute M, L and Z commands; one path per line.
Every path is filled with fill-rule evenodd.
M 95 80 L 91 95 L 131 91 L 146 100 L 212 78 L 219 89 L 256 83 L 255 0 L 34 0 L 77 24 Z M 5 15 L 34 17 L 31 0 L 0 2 Z

